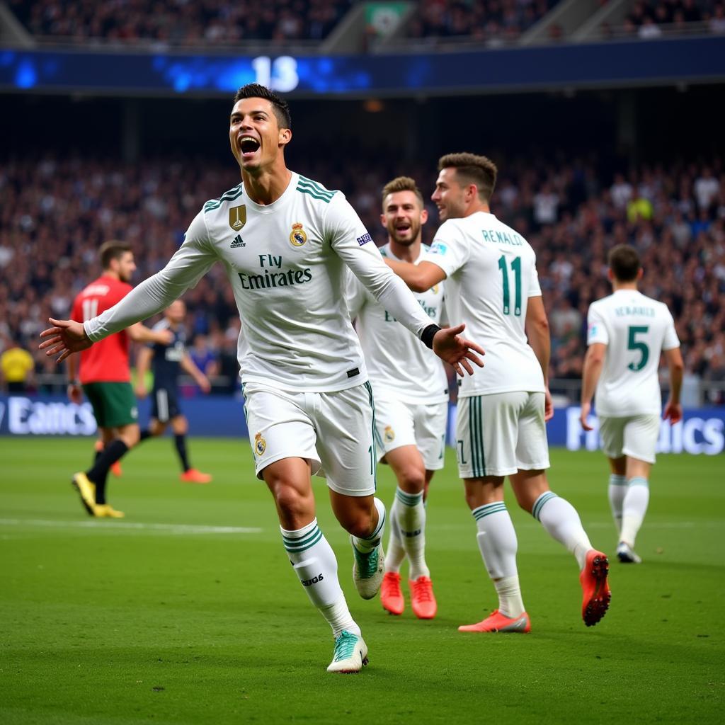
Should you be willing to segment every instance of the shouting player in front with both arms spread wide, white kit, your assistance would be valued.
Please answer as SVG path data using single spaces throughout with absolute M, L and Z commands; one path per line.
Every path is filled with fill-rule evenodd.
M 51 320 L 41 348 L 71 352 L 149 318 L 222 262 L 233 286 L 245 412 L 257 476 L 272 492 L 289 560 L 335 638 L 328 671 L 357 672 L 368 647 L 347 608 L 333 550 L 318 528 L 310 476 L 324 471 L 336 518 L 351 535 L 355 585 L 374 597 L 383 576 L 384 505 L 374 497 L 373 394 L 347 314 L 347 268 L 458 373 L 483 350 L 441 330 L 382 261 L 338 191 L 291 172 L 286 101 L 257 83 L 237 92 L 229 141 L 242 183 L 204 204 L 166 267 L 120 305 L 81 325 Z

